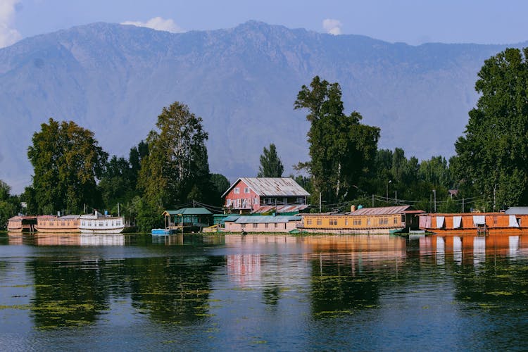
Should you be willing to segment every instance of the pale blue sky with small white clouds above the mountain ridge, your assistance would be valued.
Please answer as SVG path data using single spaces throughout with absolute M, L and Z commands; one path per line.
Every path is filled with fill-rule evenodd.
M 526 0 L 0 0 L 0 47 L 94 22 L 169 32 L 248 20 L 386 42 L 515 44 L 528 40 Z

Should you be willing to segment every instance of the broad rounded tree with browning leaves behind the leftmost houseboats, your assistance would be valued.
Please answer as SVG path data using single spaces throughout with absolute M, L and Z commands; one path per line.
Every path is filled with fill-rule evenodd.
M 34 169 L 32 187 L 39 213 L 78 213 L 84 203 L 96 206 L 101 202 L 96 181 L 108 154 L 93 132 L 73 121 L 50 118 L 33 134 L 27 156 Z

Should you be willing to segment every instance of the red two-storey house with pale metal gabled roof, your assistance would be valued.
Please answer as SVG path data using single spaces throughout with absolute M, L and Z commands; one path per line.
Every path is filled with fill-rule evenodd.
M 303 206 L 308 196 L 291 177 L 241 177 L 222 194 L 225 208 L 248 213 L 260 206 Z

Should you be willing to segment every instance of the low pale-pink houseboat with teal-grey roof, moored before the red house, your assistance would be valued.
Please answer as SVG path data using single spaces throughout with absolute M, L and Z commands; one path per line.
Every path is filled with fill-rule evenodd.
M 225 218 L 225 231 L 289 232 L 296 229 L 298 221 L 301 221 L 300 217 L 291 215 L 229 216 Z

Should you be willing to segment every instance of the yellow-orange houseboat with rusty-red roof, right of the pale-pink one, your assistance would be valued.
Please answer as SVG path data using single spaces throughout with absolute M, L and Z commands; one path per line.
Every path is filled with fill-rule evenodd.
M 336 234 L 395 234 L 418 229 L 422 210 L 411 206 L 360 208 L 350 213 L 302 214 L 301 232 Z

